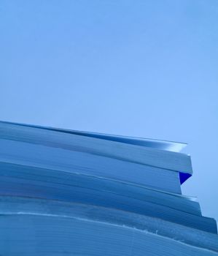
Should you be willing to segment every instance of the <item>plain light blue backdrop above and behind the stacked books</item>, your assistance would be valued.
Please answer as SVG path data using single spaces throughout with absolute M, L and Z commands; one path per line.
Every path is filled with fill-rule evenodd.
M 0 119 L 189 143 L 218 219 L 218 1 L 0 1 Z

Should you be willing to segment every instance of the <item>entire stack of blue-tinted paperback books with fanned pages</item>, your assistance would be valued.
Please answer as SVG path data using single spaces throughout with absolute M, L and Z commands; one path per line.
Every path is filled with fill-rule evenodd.
M 0 122 L 0 255 L 218 255 L 183 143 Z

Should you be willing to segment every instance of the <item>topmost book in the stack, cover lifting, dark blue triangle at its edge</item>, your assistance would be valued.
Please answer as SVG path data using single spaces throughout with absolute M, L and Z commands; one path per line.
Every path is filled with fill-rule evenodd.
M 185 144 L 0 122 L 1 162 L 80 173 L 181 194 Z

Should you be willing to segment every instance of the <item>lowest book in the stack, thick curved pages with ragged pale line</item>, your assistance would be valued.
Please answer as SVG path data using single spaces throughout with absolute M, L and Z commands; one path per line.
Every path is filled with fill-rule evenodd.
M 218 255 L 217 236 L 80 203 L 0 197 L 1 255 Z

